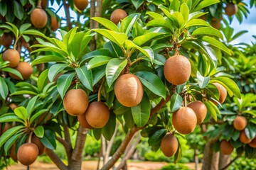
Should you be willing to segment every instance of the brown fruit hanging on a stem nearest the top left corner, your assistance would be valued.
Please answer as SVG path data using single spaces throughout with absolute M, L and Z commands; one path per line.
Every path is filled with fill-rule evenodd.
M 35 8 L 31 13 L 31 23 L 36 28 L 43 28 L 47 23 L 47 14 L 41 8 Z

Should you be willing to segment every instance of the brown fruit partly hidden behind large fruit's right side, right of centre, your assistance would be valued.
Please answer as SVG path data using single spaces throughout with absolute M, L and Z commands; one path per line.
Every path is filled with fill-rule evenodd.
M 206 105 L 201 101 L 193 101 L 188 104 L 188 107 L 192 108 L 194 113 L 196 113 L 197 124 L 202 123 L 207 114 Z

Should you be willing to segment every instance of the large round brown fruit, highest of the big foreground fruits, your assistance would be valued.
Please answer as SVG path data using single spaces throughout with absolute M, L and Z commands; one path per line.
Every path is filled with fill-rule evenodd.
M 182 55 L 174 55 L 164 64 L 164 77 L 174 85 L 180 85 L 188 81 L 191 75 L 191 64 Z

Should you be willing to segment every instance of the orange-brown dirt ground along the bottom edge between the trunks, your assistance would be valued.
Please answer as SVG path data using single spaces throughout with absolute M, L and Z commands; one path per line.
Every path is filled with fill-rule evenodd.
M 165 166 L 166 162 L 128 162 L 129 170 L 157 170 Z M 186 164 L 189 168 L 194 169 L 194 164 Z M 82 170 L 97 169 L 97 161 L 86 161 L 82 163 Z M 7 169 L 5 169 L 7 170 Z M 26 170 L 26 166 L 15 164 L 8 168 L 8 170 Z M 31 165 L 30 170 L 58 170 L 55 164 L 46 164 L 42 162 L 35 162 Z M 74 169 L 75 170 L 75 169 Z

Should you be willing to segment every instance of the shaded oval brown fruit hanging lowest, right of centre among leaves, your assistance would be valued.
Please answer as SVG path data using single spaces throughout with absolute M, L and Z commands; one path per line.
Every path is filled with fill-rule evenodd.
M 166 133 L 164 138 L 161 140 L 161 151 L 166 157 L 172 157 L 177 152 L 178 140 L 170 132 Z

